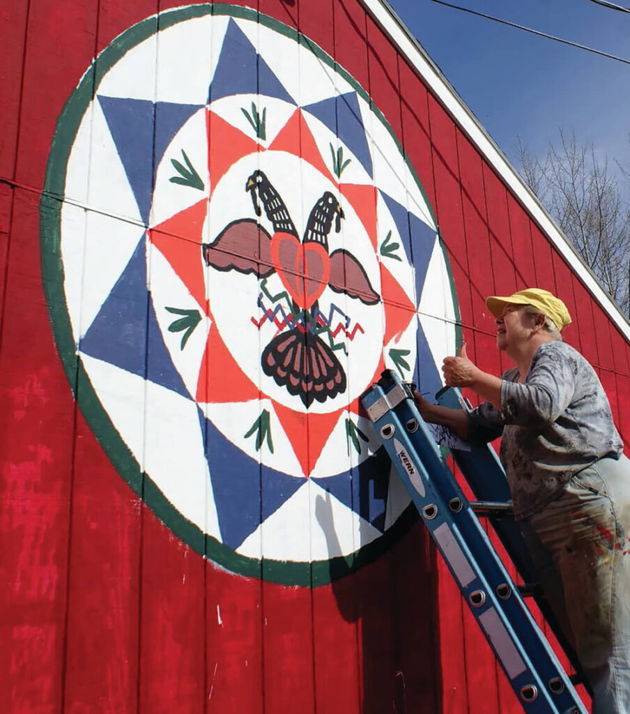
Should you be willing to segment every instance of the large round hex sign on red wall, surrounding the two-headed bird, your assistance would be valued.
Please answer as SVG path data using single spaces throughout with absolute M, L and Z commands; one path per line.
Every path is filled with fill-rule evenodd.
M 326 583 L 349 571 L 349 558 L 356 568 L 377 557 L 412 519 L 389 468 L 378 476 L 382 451 L 357 397 L 381 366 L 439 386 L 433 354 L 454 346 L 457 303 L 435 219 L 369 96 L 293 29 L 203 5 L 168 11 L 159 26 L 148 19 L 108 46 L 59 119 L 41 211 L 59 352 L 71 381 L 77 369 L 86 378 L 78 403 L 113 465 L 173 532 L 236 572 Z M 199 41 L 208 36 L 210 49 Z M 230 42 L 250 42 L 267 68 L 255 94 L 223 61 Z M 156 66 L 156 46 L 166 69 L 154 89 L 137 78 Z M 188 54 L 173 52 L 181 46 Z M 239 142 L 232 156 L 215 149 Z M 264 284 L 250 263 L 203 264 L 202 246 L 218 245 L 232 223 L 258 220 L 275 239 L 269 213 L 257 218 L 245 191 L 256 170 L 288 206 L 297 241 L 317 198 L 336 196 L 342 228 L 330 228 L 327 251 L 361 266 L 363 277 L 352 269 L 377 303 L 331 278 L 315 305 L 300 306 L 297 293 L 278 297 L 291 284 L 284 263 Z M 344 391 L 307 409 L 306 397 L 261 371 L 265 346 L 290 329 L 327 345 Z M 217 364 L 233 381 L 220 383 Z

